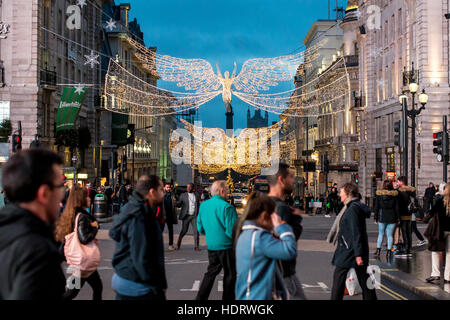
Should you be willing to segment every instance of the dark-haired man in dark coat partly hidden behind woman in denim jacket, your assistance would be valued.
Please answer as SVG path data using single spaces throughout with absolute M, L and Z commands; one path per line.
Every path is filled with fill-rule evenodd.
M 295 176 L 289 165 L 280 163 L 278 172 L 268 177 L 270 185 L 269 197 L 275 201 L 276 212 L 283 221 L 286 221 L 294 231 L 295 239 L 298 241 L 302 234 L 302 217 L 300 210 L 294 209 L 286 203 L 286 196 L 294 190 Z M 296 275 L 297 260 L 281 261 L 283 280 L 291 299 L 306 300 L 303 287 Z

